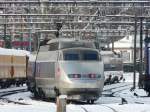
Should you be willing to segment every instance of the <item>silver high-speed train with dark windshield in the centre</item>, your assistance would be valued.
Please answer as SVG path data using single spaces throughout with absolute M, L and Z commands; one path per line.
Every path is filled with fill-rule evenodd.
M 35 69 L 35 71 L 34 71 Z M 36 61 L 29 62 L 28 88 L 35 96 L 94 103 L 101 96 L 104 67 L 93 42 L 53 39 L 40 46 Z

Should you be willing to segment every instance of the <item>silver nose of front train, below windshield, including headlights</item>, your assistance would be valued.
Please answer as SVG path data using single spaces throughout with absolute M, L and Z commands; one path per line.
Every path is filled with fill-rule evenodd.
M 63 88 L 99 88 L 103 82 L 100 62 L 59 62 Z

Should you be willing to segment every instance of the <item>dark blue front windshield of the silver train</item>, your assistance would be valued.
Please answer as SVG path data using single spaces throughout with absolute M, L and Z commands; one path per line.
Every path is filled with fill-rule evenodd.
M 96 51 L 66 51 L 63 53 L 63 59 L 68 61 L 97 61 L 99 55 Z

